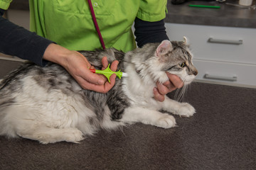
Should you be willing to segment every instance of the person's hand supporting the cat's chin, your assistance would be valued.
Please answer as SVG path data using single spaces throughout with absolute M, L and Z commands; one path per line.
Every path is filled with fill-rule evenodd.
M 181 88 L 184 84 L 181 79 L 174 75 L 166 72 L 167 77 L 169 77 L 169 81 L 164 82 L 164 84 L 160 84 L 156 82 L 156 87 L 153 89 L 154 98 L 156 101 L 164 101 L 164 96 L 171 91 L 174 91 L 178 88 Z

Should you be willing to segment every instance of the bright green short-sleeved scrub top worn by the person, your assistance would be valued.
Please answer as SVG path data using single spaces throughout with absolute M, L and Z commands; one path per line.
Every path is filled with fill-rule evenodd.
M 8 1 L 0 4 L 6 6 Z M 124 52 L 136 47 L 134 19 L 160 21 L 166 16 L 166 4 L 166 0 L 92 0 L 105 46 Z M 29 0 L 29 7 L 31 31 L 38 35 L 69 50 L 101 48 L 86 0 Z

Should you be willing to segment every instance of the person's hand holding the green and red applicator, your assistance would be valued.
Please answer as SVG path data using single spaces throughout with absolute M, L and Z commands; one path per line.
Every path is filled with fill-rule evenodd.
M 114 86 L 116 75 L 112 74 L 110 77 L 111 83 L 109 83 L 105 76 L 90 72 L 90 69 L 94 67 L 80 52 L 70 51 L 60 45 L 50 44 L 46 48 L 43 59 L 62 65 L 80 84 L 82 89 L 107 93 Z M 102 69 L 107 68 L 107 57 L 102 58 L 102 65 Z M 117 65 L 117 61 L 112 62 L 110 69 L 115 72 Z

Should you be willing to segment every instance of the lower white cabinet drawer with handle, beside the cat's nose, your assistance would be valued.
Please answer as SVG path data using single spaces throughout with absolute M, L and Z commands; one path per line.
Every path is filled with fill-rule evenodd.
M 198 69 L 196 77 L 198 80 L 256 88 L 256 66 L 254 64 L 208 60 L 193 60 L 193 64 Z

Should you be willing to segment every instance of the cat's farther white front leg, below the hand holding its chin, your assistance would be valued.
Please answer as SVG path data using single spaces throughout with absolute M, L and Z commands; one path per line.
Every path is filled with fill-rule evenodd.
M 190 117 L 194 113 L 196 113 L 195 108 L 191 106 L 189 103 L 180 103 L 178 101 L 174 101 L 171 98 L 166 97 L 162 104 L 162 109 L 164 111 L 168 111 L 175 115 L 181 115 L 183 117 Z

